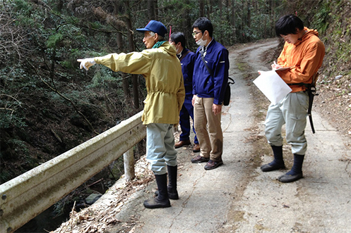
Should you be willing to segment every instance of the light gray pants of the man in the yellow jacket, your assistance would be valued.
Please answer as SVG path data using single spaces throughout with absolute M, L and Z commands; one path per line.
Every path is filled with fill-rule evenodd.
M 155 175 L 165 174 L 166 165 L 172 167 L 177 165 L 173 125 L 160 123 L 146 125 L 146 160 Z

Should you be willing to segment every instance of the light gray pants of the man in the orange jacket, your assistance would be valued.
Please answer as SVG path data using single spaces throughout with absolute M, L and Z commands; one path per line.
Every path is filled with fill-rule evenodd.
M 282 146 L 282 125 L 285 125 L 287 143 L 292 153 L 304 155 L 307 140 L 304 129 L 307 123 L 309 96 L 305 92 L 287 94 L 277 104 L 270 104 L 266 116 L 266 137 L 271 146 Z

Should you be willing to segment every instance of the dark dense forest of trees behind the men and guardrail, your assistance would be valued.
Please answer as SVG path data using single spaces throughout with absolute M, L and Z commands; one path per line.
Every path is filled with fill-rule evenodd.
M 319 31 L 326 44 L 321 89 L 335 87 L 335 96 L 345 99 L 335 111 L 350 116 L 348 0 L 1 1 L 0 184 L 143 110 L 142 76 L 101 65 L 87 73 L 77 58 L 145 49 L 135 29 L 152 19 L 168 32 L 184 32 L 194 51 L 191 25 L 201 16 L 229 47 L 275 37 L 275 22 L 285 14 Z M 137 152 L 143 154 L 143 146 Z

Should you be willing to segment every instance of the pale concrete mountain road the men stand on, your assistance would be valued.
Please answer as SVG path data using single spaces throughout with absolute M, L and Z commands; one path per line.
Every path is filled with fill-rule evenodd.
M 272 159 L 263 134 L 268 100 L 252 80 L 257 70 L 268 70 L 264 54 L 277 45 L 270 39 L 230 49 L 230 76 L 236 83 L 230 106 L 222 113 L 224 165 L 206 171 L 204 163 L 190 162 L 191 147 L 178 149 L 180 199 L 171 200 L 171 208 L 144 208 L 143 201 L 153 197 L 154 181 L 125 198 L 122 206 L 112 205 L 118 194 L 109 191 L 90 207 L 104 209 L 117 220 L 100 232 L 351 232 L 350 137 L 323 120 L 317 107 L 316 134 L 309 125 L 306 129 L 304 178 L 283 184 L 276 179 L 287 170 L 259 168 Z M 288 145 L 284 156 L 291 168 Z M 98 220 L 90 225 L 98 225 Z

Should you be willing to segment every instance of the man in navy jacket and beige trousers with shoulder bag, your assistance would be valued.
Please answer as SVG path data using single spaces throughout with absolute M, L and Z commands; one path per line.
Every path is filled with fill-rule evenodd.
M 225 46 L 213 39 L 213 25 L 208 18 L 193 24 L 198 49 L 193 75 L 194 125 L 200 154 L 191 163 L 203 163 L 206 170 L 223 164 L 223 134 L 220 125 L 223 99 L 228 83 L 229 58 Z

